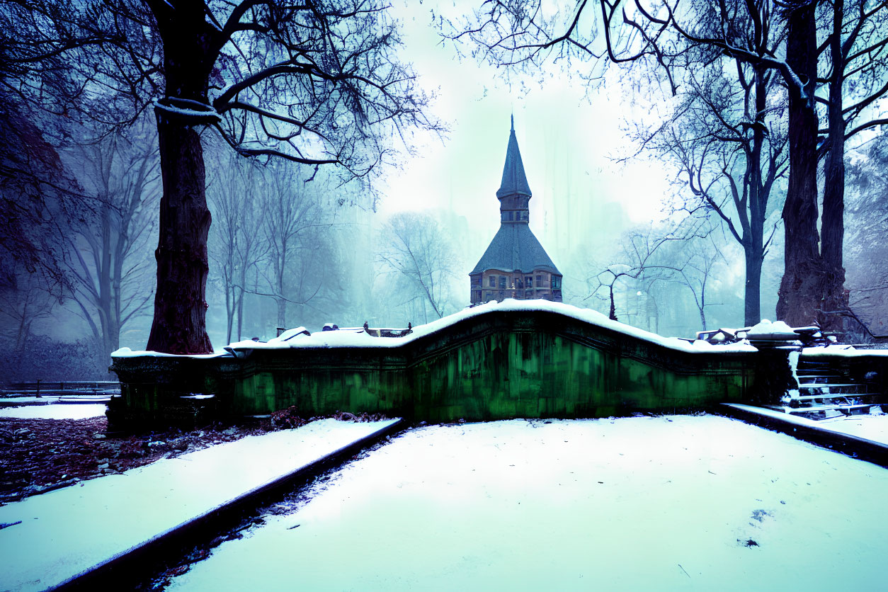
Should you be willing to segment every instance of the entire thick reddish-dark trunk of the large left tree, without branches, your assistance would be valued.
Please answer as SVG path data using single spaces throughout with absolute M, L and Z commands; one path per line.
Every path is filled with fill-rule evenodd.
M 195 116 L 194 110 L 208 102 L 210 71 L 218 55 L 213 38 L 218 29 L 207 22 L 203 3 L 155 0 L 148 4 L 163 37 L 166 88 L 155 106 L 163 197 L 155 251 L 155 319 L 147 348 L 210 353 L 213 348 L 206 330 L 210 209 L 198 131 L 212 121 L 213 114 Z

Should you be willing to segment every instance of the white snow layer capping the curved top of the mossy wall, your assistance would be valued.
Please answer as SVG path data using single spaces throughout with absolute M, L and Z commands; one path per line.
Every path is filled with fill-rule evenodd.
M 444 328 L 448 328 L 455 323 L 477 317 L 490 312 L 514 311 L 514 312 L 556 312 L 576 320 L 582 320 L 597 327 L 612 329 L 623 335 L 630 335 L 639 340 L 648 343 L 657 343 L 663 347 L 668 347 L 677 351 L 688 352 L 718 352 L 718 351 L 757 351 L 755 347 L 749 343 L 732 343 L 727 345 L 713 345 L 705 341 L 695 341 L 689 343 L 678 337 L 663 337 L 656 335 L 644 329 L 631 327 L 616 320 L 610 320 L 600 312 L 591 311 L 589 309 L 577 308 L 570 304 L 562 304 L 550 302 L 547 300 L 512 300 L 506 299 L 501 303 L 489 302 L 488 304 L 480 304 L 472 308 L 451 314 L 443 319 L 434 320 L 425 325 L 419 325 L 413 328 L 412 333 L 401 337 L 377 337 L 369 335 L 363 329 L 338 329 L 335 331 L 318 331 L 311 335 L 306 335 L 305 328 L 289 329 L 274 339 L 267 342 L 256 342 L 244 340 L 231 343 L 228 348 L 231 350 L 288 350 L 298 348 L 330 348 L 330 347 L 386 347 L 397 348 L 410 343 L 425 335 L 431 335 Z M 131 351 L 130 348 L 121 348 L 111 354 L 115 358 L 128 358 L 146 355 L 165 355 L 150 351 Z M 201 357 L 214 357 L 230 355 L 226 351 L 218 351 L 214 354 L 206 354 Z M 196 356 L 195 356 L 196 357 Z

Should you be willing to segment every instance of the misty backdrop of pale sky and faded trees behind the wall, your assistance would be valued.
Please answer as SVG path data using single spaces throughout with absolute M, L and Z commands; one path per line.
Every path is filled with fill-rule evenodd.
M 511 115 L 533 192 L 530 227 L 564 274 L 565 303 L 607 314 L 613 287 L 617 319 L 638 328 L 693 337 L 742 327 L 740 245 L 711 210 L 688 208 L 694 196 L 680 165 L 644 146 L 644 130 L 668 119 L 677 99 L 666 89 L 639 93 L 623 69 L 591 83 L 569 66 L 506 77 L 472 56 L 460 59 L 466 48 L 442 42 L 439 26 L 442 11 L 458 18 L 473 5 L 457 4 L 394 4 L 400 54 L 434 94 L 432 112 L 448 131 L 408 143 L 392 138 L 398 164 L 379 176 L 344 183 L 333 170 L 248 160 L 204 132 L 214 347 L 325 323 L 400 328 L 467 306 L 468 272 L 499 225 L 496 188 Z M 46 125 L 24 111 L 16 116 L 35 133 Z M 2 346 L 15 352 L 6 379 L 102 377 L 111 351 L 144 349 L 162 193 L 151 116 L 99 142 L 85 139 L 89 130 L 56 135 L 65 138 L 54 146 L 61 168 L 91 207 L 58 212 L 65 240 L 44 247 L 64 261 L 64 286 L 4 263 L 15 278 L 0 295 Z M 886 154 L 878 128 L 849 145 L 844 247 L 851 304 L 883 334 Z M 785 191 L 786 178 L 778 178 L 765 222 L 773 241 L 761 316 L 771 319 Z

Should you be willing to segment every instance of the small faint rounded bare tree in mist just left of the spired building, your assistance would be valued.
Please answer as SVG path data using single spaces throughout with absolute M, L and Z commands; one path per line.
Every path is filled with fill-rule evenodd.
M 439 319 L 443 317 L 448 312 L 449 280 L 455 272 L 456 254 L 437 220 L 417 212 L 395 214 L 379 235 L 379 261 L 404 280 L 409 290 L 387 297 L 401 303 L 416 296 L 429 304 Z

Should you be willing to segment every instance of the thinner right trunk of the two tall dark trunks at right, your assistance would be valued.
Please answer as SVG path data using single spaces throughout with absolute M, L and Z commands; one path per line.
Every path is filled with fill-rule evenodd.
M 822 310 L 842 311 L 848 308 L 844 291 L 842 248 L 844 239 L 844 117 L 842 116 L 842 16 L 844 3 L 836 0 L 833 7 L 833 38 L 829 43 L 833 72 L 829 80 L 829 152 L 823 166 L 823 217 L 821 218 L 821 254 L 823 257 Z M 821 327 L 841 330 L 844 317 L 822 315 Z

